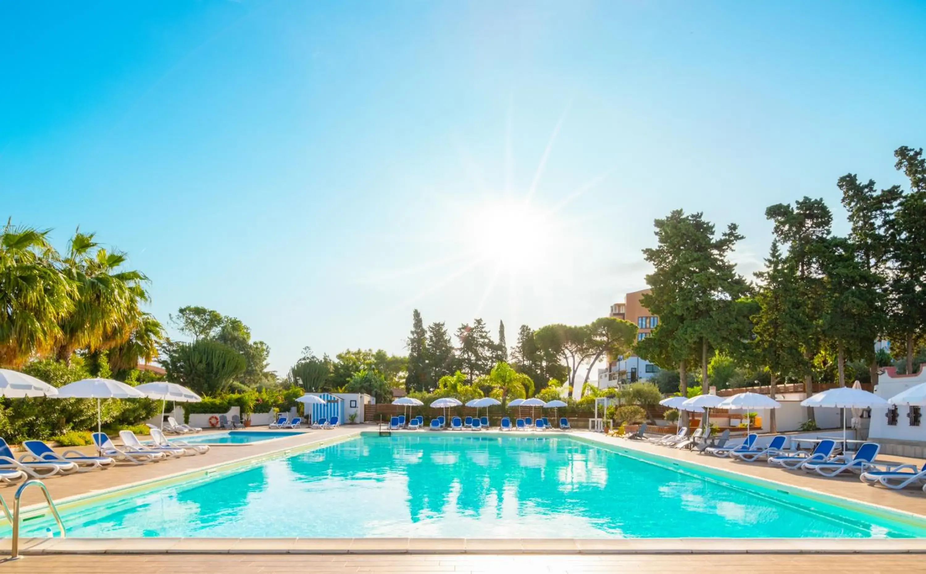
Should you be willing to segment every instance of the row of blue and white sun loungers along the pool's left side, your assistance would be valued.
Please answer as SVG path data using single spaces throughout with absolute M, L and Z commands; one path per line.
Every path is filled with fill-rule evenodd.
M 78 450 L 56 453 L 44 441 L 25 441 L 22 446 L 26 454 L 19 458 L 13 454 L 6 441 L 0 438 L 0 481 L 12 484 L 29 478 L 47 479 L 75 472 L 106 470 L 120 461 L 142 465 L 168 458 L 203 455 L 209 450 L 206 444 L 169 440 L 156 427 L 151 429 L 150 443 L 142 443 L 131 430 L 119 431 L 122 446 L 116 446 L 103 432 L 94 432 L 93 437 L 99 455 L 86 455 Z

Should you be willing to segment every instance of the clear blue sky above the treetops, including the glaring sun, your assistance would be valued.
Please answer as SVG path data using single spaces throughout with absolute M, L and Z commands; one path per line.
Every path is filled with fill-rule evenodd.
M 0 0 L 0 215 L 97 231 L 158 318 L 241 318 L 281 372 L 403 352 L 414 307 L 514 343 L 642 288 L 674 207 L 739 223 L 751 273 L 766 206 L 903 182 L 923 30 L 913 1 Z

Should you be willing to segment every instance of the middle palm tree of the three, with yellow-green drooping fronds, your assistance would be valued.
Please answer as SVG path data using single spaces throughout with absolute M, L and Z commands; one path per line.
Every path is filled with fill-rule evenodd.
M 140 304 L 148 301 L 147 277 L 119 268 L 120 252 L 108 252 L 94 242 L 94 233 L 77 231 L 70 240 L 62 272 L 77 286 L 73 310 L 59 322 L 57 358 L 69 363 L 75 350 L 106 350 L 131 339 L 144 319 Z

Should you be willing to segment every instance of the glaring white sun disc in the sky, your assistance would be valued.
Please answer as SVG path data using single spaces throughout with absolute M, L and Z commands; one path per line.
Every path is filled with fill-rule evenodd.
M 467 227 L 473 254 L 509 269 L 535 266 L 553 239 L 545 214 L 524 201 L 486 203 L 474 210 Z

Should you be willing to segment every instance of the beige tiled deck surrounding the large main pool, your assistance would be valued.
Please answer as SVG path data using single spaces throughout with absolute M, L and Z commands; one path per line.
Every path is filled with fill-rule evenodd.
M 87 495 L 107 492 L 122 492 L 130 488 L 144 488 L 151 481 L 165 479 L 183 480 L 190 473 L 203 472 L 207 468 L 232 468 L 239 464 L 248 464 L 266 456 L 281 455 L 285 451 L 310 449 L 322 443 L 332 443 L 357 436 L 361 431 L 375 431 L 374 425 L 352 425 L 333 430 L 306 430 L 298 436 L 286 437 L 261 443 L 241 444 L 234 446 L 215 447 L 206 455 L 185 456 L 175 460 L 142 466 L 120 464 L 117 468 L 106 471 L 89 472 L 63 477 L 54 477 L 45 483 L 58 505 L 74 504 Z M 257 429 L 249 429 L 257 430 Z M 432 434 L 431 431 L 412 431 L 415 434 Z M 451 431 L 443 431 L 449 434 Z M 453 432 L 453 434 L 463 434 Z M 484 432 L 482 433 L 484 434 Z M 536 436 L 535 431 L 510 434 L 530 434 Z M 546 434 L 558 434 L 548 431 Z M 805 472 L 786 471 L 771 468 L 765 463 L 746 464 L 733 462 L 728 458 L 698 455 L 688 451 L 667 449 L 649 443 L 629 441 L 604 436 L 600 433 L 584 431 L 571 431 L 569 435 L 586 438 L 592 441 L 607 443 L 627 450 L 652 453 L 668 456 L 689 463 L 712 468 L 720 468 L 731 472 L 739 472 L 745 476 L 759 479 L 773 480 L 784 485 L 809 489 L 818 493 L 830 494 L 841 498 L 854 499 L 860 502 L 881 505 L 883 507 L 911 512 L 926 516 L 926 494 L 920 489 L 908 489 L 903 492 L 886 491 L 862 484 L 856 477 L 845 479 L 824 479 Z M 884 459 L 906 461 L 903 457 L 890 456 Z M 909 462 L 919 462 L 909 460 Z M 0 488 L 7 501 L 11 502 L 14 489 L 12 487 Z M 40 505 L 38 503 L 42 502 Z M 23 496 L 23 504 L 27 507 L 35 505 L 36 508 L 44 505 L 38 489 Z M 9 540 L 0 540 L 0 553 L 8 552 Z M 44 569 L 69 568 L 76 565 L 72 555 L 98 554 L 104 558 L 97 562 L 94 558 L 93 571 L 159 571 L 165 568 L 171 571 L 185 571 L 187 561 L 178 555 L 190 555 L 194 560 L 198 556 L 209 556 L 228 568 L 255 568 L 255 564 L 266 567 L 269 563 L 279 564 L 281 569 L 312 568 L 315 571 L 362 571 L 364 569 L 412 569 L 419 571 L 453 570 L 462 568 L 484 570 L 486 568 L 519 569 L 508 560 L 519 557 L 527 560 L 524 564 L 536 564 L 528 560 L 536 560 L 536 555 L 546 555 L 544 565 L 537 569 L 540 571 L 583 571 L 586 569 L 609 570 L 617 568 L 675 568 L 684 566 L 687 570 L 702 571 L 699 568 L 716 570 L 717 559 L 723 555 L 722 560 L 730 560 L 731 568 L 737 565 L 757 571 L 765 571 L 767 565 L 778 563 L 776 571 L 787 570 L 788 565 L 800 568 L 815 568 L 814 564 L 822 565 L 820 554 L 840 555 L 838 564 L 841 568 L 865 568 L 874 571 L 909 568 L 921 565 L 922 554 L 926 554 L 926 539 L 863 539 L 863 540 L 811 540 L 811 539 L 772 539 L 772 540 L 731 540 L 731 539 L 655 539 L 655 540 L 585 540 L 585 539 L 23 539 L 20 551 L 28 555 L 26 560 L 38 568 L 37 565 L 47 564 Z M 730 554 L 741 555 L 741 558 L 730 558 Z M 909 554 L 915 556 L 909 556 Z M 694 555 L 693 555 L 694 554 Z M 768 563 L 753 560 L 748 555 L 764 554 L 772 558 Z M 907 562 L 903 555 L 915 558 L 916 562 Z M 264 555 L 257 559 L 255 555 Z M 293 556 L 301 555 L 301 556 Z M 324 555 L 324 556 L 321 556 Z M 340 557 L 332 557 L 340 556 Z M 357 560 L 362 555 L 392 555 L 389 559 L 381 556 L 381 561 L 365 562 Z M 457 555 L 446 557 L 446 564 L 434 562 L 437 555 Z M 480 556 L 482 555 L 482 556 Z M 501 556 L 504 555 L 504 556 Z M 520 556 L 518 556 L 520 555 Z M 530 556 L 530 555 L 533 555 Z M 563 561 L 561 555 L 574 555 L 573 558 L 582 558 L 580 562 Z M 674 555 L 674 557 L 672 557 Z M 682 562 L 681 556 L 688 555 Z M 706 558 L 702 555 L 713 555 Z M 770 556 L 774 555 L 774 556 Z M 788 555 L 786 558 L 781 555 Z M 268 557 L 272 556 L 272 558 Z M 345 558 L 344 556 L 353 556 Z M 488 558 L 496 556 L 500 562 L 471 561 L 471 558 Z M 614 556 L 629 556 L 614 558 Z M 801 557 L 803 556 L 803 557 Z M 867 557 L 862 557 L 867 556 Z M 372 556 L 366 556 L 372 558 Z M 781 562 L 779 558 L 781 557 Z M 792 562 L 789 560 L 797 560 Z M 465 558 L 465 559 L 464 559 Z M 596 558 L 599 561 L 595 561 Z M 718 558 L 719 559 L 719 558 Z M 34 562 L 33 562 L 34 560 Z M 290 560 L 290 562 L 287 562 Z M 301 562 L 300 562 L 301 560 Z M 469 561 L 468 561 L 469 560 Z M 617 560 L 617 561 L 608 561 Z M 20 568 L 21 563 L 11 563 L 5 566 Z M 217 563 L 218 564 L 218 563 Z M 104 565 L 111 565 L 106 566 Z M 247 566 L 250 565 L 250 566 Z M 752 565 L 752 566 L 748 566 Z M 832 563 L 830 564 L 832 567 Z M 381 568 L 382 567 L 382 568 Z M 477 568 L 478 567 L 478 568 Z M 9 568 L 11 571 L 16 568 Z M 76 567 L 76 571 L 81 568 Z M 150 569 L 149 569 L 150 568 Z M 178 569 L 180 568 L 180 569 Z M 228 569 L 223 566 L 223 569 Z M 527 568 L 525 566 L 525 568 Z M 757 569 L 758 568 L 758 569 Z M 914 567 L 916 568 L 916 567 Z M 72 568 L 69 568 L 72 569 Z M 210 569 L 215 569 L 211 568 Z M 532 568 L 533 569 L 533 568 Z M 833 571 L 832 568 L 828 568 Z M 89 570 L 87 570 L 89 571 Z M 268 570 L 272 571 L 272 570 Z

